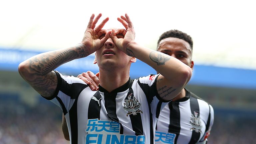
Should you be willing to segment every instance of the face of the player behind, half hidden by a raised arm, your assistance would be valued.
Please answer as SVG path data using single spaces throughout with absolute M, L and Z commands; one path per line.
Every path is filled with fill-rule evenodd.
M 193 69 L 192 51 L 188 42 L 179 38 L 165 38 L 159 42 L 157 51 L 175 57 Z

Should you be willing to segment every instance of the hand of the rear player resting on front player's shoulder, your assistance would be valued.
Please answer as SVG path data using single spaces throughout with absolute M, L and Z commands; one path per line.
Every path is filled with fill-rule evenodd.
M 96 73 L 94 75 L 93 72 L 87 71 L 86 73 L 81 73 L 77 77 L 83 80 L 86 84 L 88 84 L 92 91 L 95 91 L 99 89 L 98 85 L 100 85 L 99 74 L 100 73 Z

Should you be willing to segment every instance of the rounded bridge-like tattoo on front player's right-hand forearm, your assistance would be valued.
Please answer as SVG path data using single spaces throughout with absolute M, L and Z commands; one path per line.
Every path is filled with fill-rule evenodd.
M 153 62 L 157 63 L 157 65 L 164 65 L 164 63 L 170 59 L 169 56 L 156 51 L 150 52 L 149 57 Z

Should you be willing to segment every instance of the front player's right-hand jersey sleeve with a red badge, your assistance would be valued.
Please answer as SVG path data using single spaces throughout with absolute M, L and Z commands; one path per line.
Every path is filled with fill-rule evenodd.
M 162 101 L 157 92 L 156 82 L 159 75 L 160 74 L 149 75 L 147 77 L 141 77 L 138 80 L 138 83 L 143 92 L 145 93 L 148 103 L 150 104 L 152 115 L 156 118 L 159 117 L 160 111 L 169 102 Z

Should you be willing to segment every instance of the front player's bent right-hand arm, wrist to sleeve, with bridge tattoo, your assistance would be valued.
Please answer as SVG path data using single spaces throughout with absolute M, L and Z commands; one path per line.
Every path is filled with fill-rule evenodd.
M 129 45 L 126 50 L 161 74 L 157 79 L 157 91 L 163 100 L 171 100 L 178 95 L 191 77 L 191 68 L 172 56 L 136 43 Z

